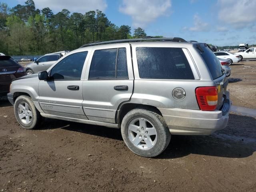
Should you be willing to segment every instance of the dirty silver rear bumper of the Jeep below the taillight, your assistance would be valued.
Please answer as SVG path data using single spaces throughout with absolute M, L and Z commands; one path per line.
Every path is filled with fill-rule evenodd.
M 231 102 L 227 98 L 221 110 L 201 111 L 180 108 L 158 108 L 174 135 L 210 135 L 228 124 Z

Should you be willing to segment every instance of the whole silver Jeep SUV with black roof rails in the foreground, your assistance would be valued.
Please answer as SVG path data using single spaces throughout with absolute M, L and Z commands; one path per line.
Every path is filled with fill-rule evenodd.
M 41 117 L 120 128 L 145 157 L 162 153 L 173 135 L 225 128 L 228 80 L 207 44 L 147 38 L 86 44 L 47 71 L 12 82 L 9 101 L 20 125 Z

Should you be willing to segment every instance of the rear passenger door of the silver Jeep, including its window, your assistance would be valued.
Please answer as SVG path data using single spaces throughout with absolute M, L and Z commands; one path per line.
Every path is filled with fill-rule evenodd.
M 82 106 L 89 120 L 115 123 L 118 106 L 132 96 L 130 45 L 92 50 L 83 82 Z

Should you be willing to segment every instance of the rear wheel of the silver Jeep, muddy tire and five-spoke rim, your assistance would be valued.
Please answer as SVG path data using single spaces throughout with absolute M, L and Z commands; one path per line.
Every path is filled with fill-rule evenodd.
M 126 146 L 143 157 L 158 156 L 171 139 L 170 130 L 163 117 L 142 108 L 131 110 L 124 116 L 121 133 Z

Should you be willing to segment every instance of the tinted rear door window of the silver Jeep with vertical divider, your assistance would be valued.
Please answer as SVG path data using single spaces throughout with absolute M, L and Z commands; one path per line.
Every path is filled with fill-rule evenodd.
M 126 48 L 94 51 L 89 79 L 128 79 Z

